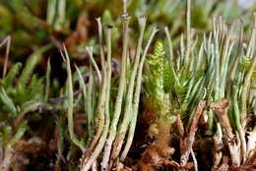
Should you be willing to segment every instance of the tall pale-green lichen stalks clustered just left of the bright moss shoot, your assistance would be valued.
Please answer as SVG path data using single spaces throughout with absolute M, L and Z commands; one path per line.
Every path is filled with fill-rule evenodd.
M 131 65 L 127 64 L 129 40 L 128 26 L 130 17 L 125 10 L 121 16 L 121 20 L 123 22 L 121 72 L 119 76 L 116 98 L 114 100 L 114 108 L 111 114 L 109 112 L 109 96 L 111 88 L 111 27 L 107 27 L 105 29 L 105 62 L 101 24 L 99 19 L 96 20 L 99 35 L 101 72 L 99 72 L 96 65 L 95 68 L 96 71 L 98 71 L 100 92 L 96 104 L 96 134 L 89 147 L 84 152 L 81 160 L 81 170 L 83 171 L 96 167 L 96 159 L 99 157 L 101 152 L 103 152 L 102 161 L 100 163 L 101 170 L 111 169 L 115 165 L 114 162 L 117 160 L 117 158 L 120 158 L 121 161 L 126 158 L 133 141 L 141 93 L 143 64 L 157 29 L 153 29 L 145 49 L 142 50 L 144 31 L 146 28 L 146 18 L 142 17 L 139 19 L 140 35 L 135 52 L 134 63 L 132 66 L 130 66 L 130 73 L 127 73 L 127 67 L 128 65 Z M 92 50 L 88 49 L 88 51 L 91 54 L 91 59 L 93 60 Z M 122 118 L 120 116 L 122 116 Z

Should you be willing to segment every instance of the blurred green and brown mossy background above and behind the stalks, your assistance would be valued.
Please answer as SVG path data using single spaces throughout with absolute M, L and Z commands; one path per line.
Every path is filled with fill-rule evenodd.
M 185 26 L 184 0 L 129 0 L 127 3 L 133 17 L 130 28 L 137 28 L 135 17 L 145 15 L 149 28 L 170 28 L 175 45 Z M 208 31 L 211 17 L 222 15 L 229 22 L 242 19 L 245 31 L 250 30 L 255 3 L 256 0 L 195 0 L 192 27 Z M 83 60 L 87 56 L 85 46 L 96 45 L 96 17 L 101 16 L 103 25 L 114 26 L 113 41 L 118 42 L 121 10 L 121 0 L 0 0 L 0 41 L 10 35 L 12 42 L 9 66 L 26 60 L 39 47 L 51 44 L 61 48 L 63 42 L 73 59 Z M 134 46 L 132 42 L 131 45 Z M 46 56 L 55 56 L 56 49 L 52 49 L 45 50 L 50 51 Z M 1 47 L 1 67 L 4 50 Z M 114 55 L 118 53 L 117 50 Z

